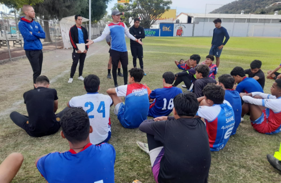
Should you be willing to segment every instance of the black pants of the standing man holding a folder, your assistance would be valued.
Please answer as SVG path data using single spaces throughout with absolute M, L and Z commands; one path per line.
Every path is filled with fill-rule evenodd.
M 73 52 L 72 52 L 73 62 L 72 62 L 71 71 L 70 71 L 70 78 L 73 78 L 73 76 L 75 74 L 78 61 L 79 61 L 79 76 L 82 76 L 86 55 L 87 54 L 76 53 L 75 50 L 73 49 Z

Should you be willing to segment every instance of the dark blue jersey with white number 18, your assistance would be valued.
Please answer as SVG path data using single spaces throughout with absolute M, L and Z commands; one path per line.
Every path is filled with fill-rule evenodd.
M 173 86 L 153 90 L 149 97 L 155 100 L 149 106 L 148 116 L 169 116 L 174 107 L 173 99 L 179 93 L 182 93 L 182 90 Z

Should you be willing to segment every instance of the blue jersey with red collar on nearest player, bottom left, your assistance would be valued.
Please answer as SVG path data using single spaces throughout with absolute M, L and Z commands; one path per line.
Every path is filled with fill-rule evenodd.
M 73 149 L 64 153 L 49 153 L 38 160 L 36 167 L 50 183 L 112 183 L 115 156 L 112 145 L 89 143 L 79 153 Z

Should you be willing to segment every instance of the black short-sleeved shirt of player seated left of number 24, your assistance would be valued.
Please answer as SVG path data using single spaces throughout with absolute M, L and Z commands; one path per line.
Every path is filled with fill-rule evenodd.
M 29 132 L 37 137 L 53 134 L 59 123 L 54 113 L 54 101 L 58 100 L 57 91 L 38 87 L 23 94 L 28 113 Z

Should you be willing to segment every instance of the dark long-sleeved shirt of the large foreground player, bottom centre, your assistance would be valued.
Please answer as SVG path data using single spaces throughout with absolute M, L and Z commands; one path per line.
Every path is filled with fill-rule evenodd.
M 139 129 L 164 145 L 159 183 L 207 183 L 211 153 L 206 125 L 201 119 L 169 116 L 167 121 L 146 120 Z

